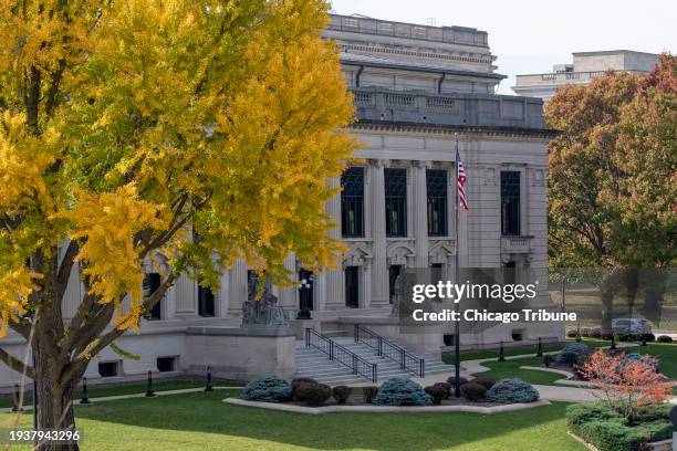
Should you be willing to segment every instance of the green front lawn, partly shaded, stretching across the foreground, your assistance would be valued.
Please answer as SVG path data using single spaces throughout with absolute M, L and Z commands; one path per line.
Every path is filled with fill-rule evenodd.
M 230 391 L 237 396 L 238 391 Z M 221 402 L 196 392 L 77 406 L 82 449 L 583 451 L 566 434 L 565 403 L 492 416 L 476 413 L 332 413 L 309 416 Z M 0 415 L 0 428 L 14 417 Z M 30 426 L 30 415 L 21 417 Z M 12 449 L 28 449 L 12 448 Z

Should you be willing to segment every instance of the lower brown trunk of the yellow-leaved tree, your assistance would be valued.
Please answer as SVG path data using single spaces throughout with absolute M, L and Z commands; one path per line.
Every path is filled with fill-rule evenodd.
M 60 380 L 66 361 L 53 361 L 39 349 L 35 352 L 35 381 L 38 385 L 38 429 L 75 430 L 73 410 L 74 381 Z M 38 451 L 76 451 L 76 442 L 35 442 Z

